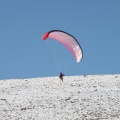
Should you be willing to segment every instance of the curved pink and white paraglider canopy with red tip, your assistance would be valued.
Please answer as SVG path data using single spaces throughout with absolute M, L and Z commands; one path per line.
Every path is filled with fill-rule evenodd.
M 47 38 L 52 38 L 62 43 L 73 54 L 73 56 L 76 59 L 76 62 L 81 61 L 83 57 L 81 46 L 79 42 L 72 35 L 61 30 L 52 30 L 45 33 L 42 36 L 43 40 L 46 40 Z

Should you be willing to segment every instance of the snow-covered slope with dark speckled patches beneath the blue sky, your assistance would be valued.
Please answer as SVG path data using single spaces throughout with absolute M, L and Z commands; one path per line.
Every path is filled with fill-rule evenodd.
M 120 120 L 120 75 L 0 80 L 0 120 Z

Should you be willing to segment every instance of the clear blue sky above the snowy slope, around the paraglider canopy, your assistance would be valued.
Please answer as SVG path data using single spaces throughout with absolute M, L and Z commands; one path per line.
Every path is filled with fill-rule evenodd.
M 49 30 L 72 34 L 76 63 Z M 0 79 L 120 73 L 120 0 L 0 0 Z

